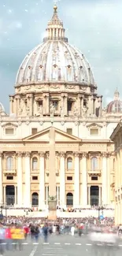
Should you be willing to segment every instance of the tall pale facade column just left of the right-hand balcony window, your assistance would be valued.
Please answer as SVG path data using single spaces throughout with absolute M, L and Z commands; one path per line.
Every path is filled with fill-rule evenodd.
M 87 206 L 87 153 L 82 155 L 82 202 Z

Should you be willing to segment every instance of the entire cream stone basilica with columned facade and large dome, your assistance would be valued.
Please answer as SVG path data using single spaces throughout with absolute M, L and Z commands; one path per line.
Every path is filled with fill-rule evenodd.
M 87 59 L 68 43 L 57 6 L 43 43 L 17 72 L 10 113 L 0 106 L 0 204 L 114 206 L 119 92 L 102 109 Z

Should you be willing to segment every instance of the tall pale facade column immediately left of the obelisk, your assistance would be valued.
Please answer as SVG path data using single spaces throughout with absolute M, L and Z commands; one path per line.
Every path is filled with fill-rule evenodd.
M 45 154 L 39 152 L 39 209 L 45 209 Z

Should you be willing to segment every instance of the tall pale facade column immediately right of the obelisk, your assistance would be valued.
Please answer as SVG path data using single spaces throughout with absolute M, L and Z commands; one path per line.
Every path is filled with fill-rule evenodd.
M 60 153 L 60 205 L 65 206 L 65 153 Z

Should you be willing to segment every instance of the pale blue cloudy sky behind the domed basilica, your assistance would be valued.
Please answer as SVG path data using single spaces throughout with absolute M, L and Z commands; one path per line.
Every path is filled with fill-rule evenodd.
M 6 112 L 20 63 L 43 43 L 53 6 L 53 0 L 0 1 L 0 102 Z M 103 107 L 113 100 L 116 87 L 122 98 L 122 1 L 61 0 L 57 6 L 68 43 L 91 64 Z

